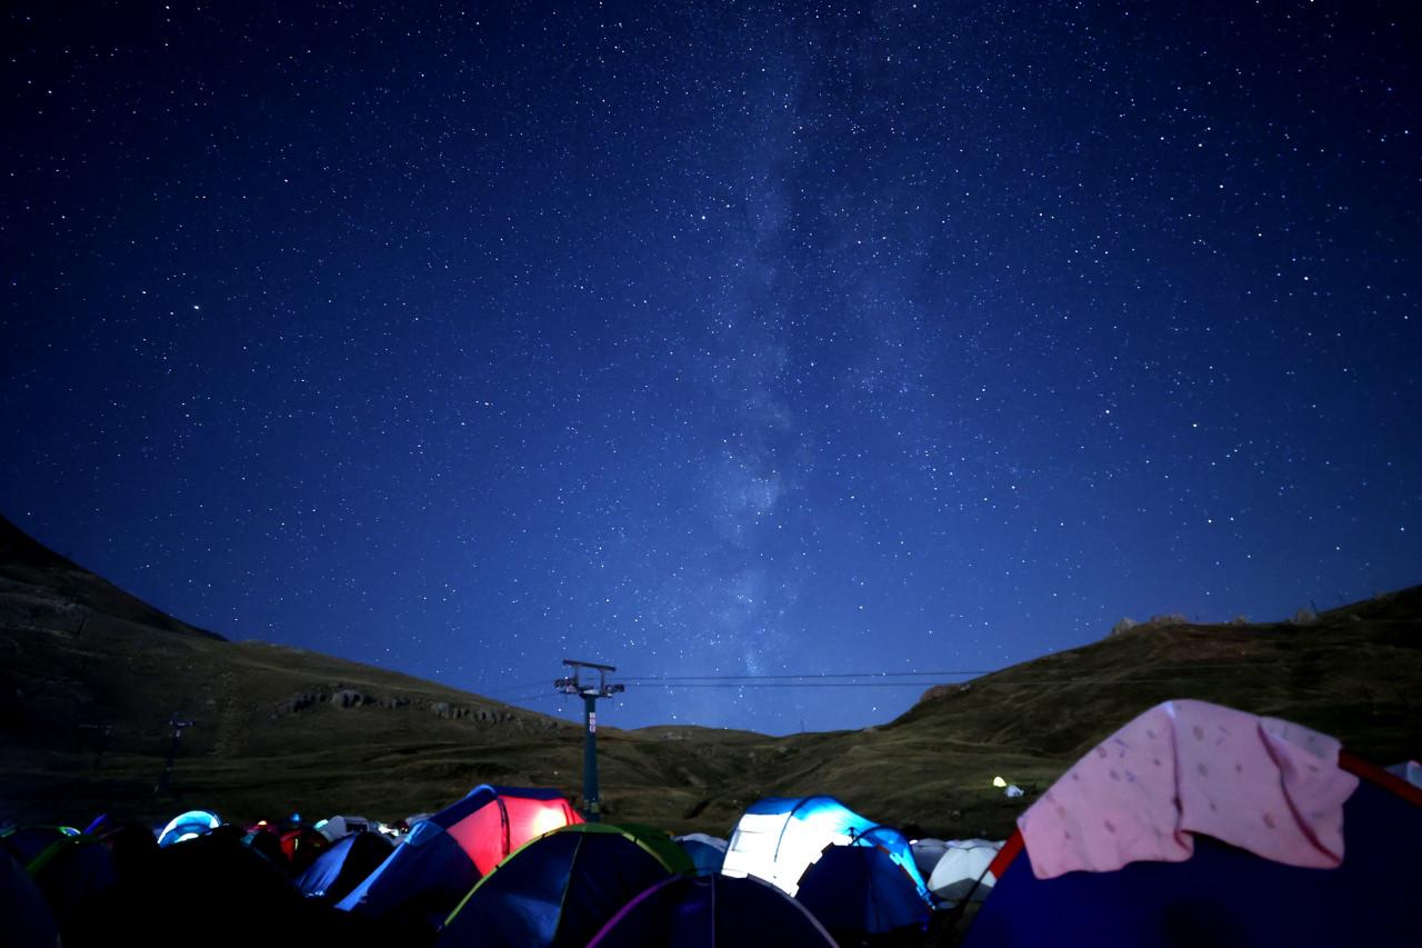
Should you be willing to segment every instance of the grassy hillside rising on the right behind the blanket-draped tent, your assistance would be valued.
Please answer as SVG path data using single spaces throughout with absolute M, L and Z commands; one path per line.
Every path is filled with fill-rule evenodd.
M 1021 806 L 990 789 L 994 776 L 1045 790 L 1160 702 L 1196 697 L 1295 720 L 1391 763 L 1422 753 L 1418 682 L 1422 586 L 1308 625 L 1140 625 L 933 689 L 890 725 L 826 740 L 818 769 L 793 789 L 820 783 L 866 811 L 936 830 L 948 823 L 954 834 L 1003 834 Z

